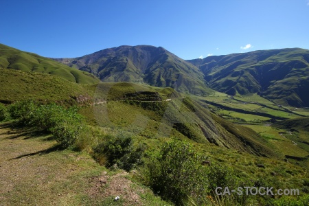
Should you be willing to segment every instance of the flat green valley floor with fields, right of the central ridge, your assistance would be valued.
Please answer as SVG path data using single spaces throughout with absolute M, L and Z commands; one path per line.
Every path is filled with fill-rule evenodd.
M 285 155 L 294 157 L 306 157 L 308 150 L 308 121 L 306 118 L 299 118 L 295 108 L 278 106 L 277 104 L 270 102 L 259 95 L 236 95 L 234 98 L 230 98 L 229 95 L 222 93 L 216 93 L 216 95 L 210 95 L 206 97 L 195 98 L 204 106 L 208 106 L 211 111 L 221 115 L 225 119 L 231 122 L 242 124 L 255 130 L 268 144 L 272 150 L 282 158 Z M 204 100 L 208 100 L 209 104 L 203 103 Z M 216 102 L 217 105 L 225 106 L 225 108 L 218 108 L 218 106 L 212 106 L 211 102 Z M 243 102 L 246 102 L 245 104 Z M 240 108 L 236 112 L 234 108 Z M 271 120 L 264 115 L 252 115 L 247 111 L 256 111 L 259 113 L 273 115 L 274 117 L 284 117 L 289 120 L 284 120 L 274 124 L 278 128 L 271 127 Z M 306 114 L 306 108 L 299 108 L 299 114 Z M 278 120 L 277 120 L 278 121 Z M 289 130 L 295 129 L 297 132 L 292 132 L 290 135 Z M 296 144 L 295 144 L 296 143 Z M 308 161 L 295 161 L 290 160 L 296 165 L 301 165 L 304 168 L 308 168 Z

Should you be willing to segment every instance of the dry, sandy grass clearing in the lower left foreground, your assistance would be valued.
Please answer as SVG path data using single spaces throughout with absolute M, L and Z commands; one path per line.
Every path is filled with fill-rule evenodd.
M 0 206 L 153 205 L 139 196 L 151 191 L 128 173 L 111 173 L 85 153 L 55 146 L 48 135 L 0 124 Z M 113 201 L 116 195 L 121 200 Z

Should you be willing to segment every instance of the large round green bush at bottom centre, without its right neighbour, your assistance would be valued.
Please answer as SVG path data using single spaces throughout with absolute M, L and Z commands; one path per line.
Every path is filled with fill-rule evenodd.
M 190 144 L 181 141 L 167 142 L 161 151 L 146 163 L 144 177 L 146 184 L 176 205 L 182 205 L 187 198 L 198 201 L 207 194 L 207 168 Z

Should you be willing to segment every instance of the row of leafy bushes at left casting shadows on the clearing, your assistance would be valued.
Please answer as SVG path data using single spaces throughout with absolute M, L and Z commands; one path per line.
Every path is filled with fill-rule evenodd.
M 10 115 L 19 123 L 52 133 L 60 146 L 73 146 L 84 129 L 84 119 L 77 108 L 56 104 L 38 106 L 32 101 L 16 102 L 9 106 Z

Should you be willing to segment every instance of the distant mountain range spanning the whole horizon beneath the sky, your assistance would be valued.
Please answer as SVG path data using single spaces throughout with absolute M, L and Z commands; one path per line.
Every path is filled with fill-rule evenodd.
M 309 50 L 299 48 L 183 60 L 163 47 L 148 45 L 103 49 L 78 58 L 43 58 L 0 45 L 0 67 L 51 73 L 80 83 L 98 78 L 144 82 L 196 95 L 214 90 L 258 93 L 276 104 L 309 106 Z

